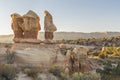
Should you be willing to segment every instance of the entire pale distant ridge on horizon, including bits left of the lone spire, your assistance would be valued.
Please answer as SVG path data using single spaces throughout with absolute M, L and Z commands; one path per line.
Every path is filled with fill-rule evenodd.
M 82 32 L 55 32 L 54 40 L 75 40 L 79 38 L 109 38 L 120 36 L 120 32 L 92 32 L 92 33 L 82 33 Z M 44 40 L 44 32 L 40 32 L 38 35 L 40 40 Z M 11 43 L 13 35 L 0 35 L 1 43 Z

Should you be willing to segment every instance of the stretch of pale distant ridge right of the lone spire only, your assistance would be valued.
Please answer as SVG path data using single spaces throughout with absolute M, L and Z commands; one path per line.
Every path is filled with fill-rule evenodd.
M 67 39 L 67 40 L 74 40 L 74 39 L 87 39 L 87 38 L 108 38 L 108 37 L 115 37 L 120 36 L 120 32 L 92 32 L 92 33 L 82 33 L 82 32 L 57 32 L 55 34 L 55 39 Z

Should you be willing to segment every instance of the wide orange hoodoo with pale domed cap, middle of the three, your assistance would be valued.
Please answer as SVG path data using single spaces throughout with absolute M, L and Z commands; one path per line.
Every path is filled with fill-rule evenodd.
M 27 14 L 23 15 L 23 21 L 24 38 L 37 39 L 38 31 L 41 30 L 39 16 L 29 10 Z

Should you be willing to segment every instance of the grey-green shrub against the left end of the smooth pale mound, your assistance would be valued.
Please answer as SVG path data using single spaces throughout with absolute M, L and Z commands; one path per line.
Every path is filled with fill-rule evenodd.
M 4 59 L 8 64 L 13 64 L 15 60 L 15 52 L 10 52 L 9 50 L 6 50 Z

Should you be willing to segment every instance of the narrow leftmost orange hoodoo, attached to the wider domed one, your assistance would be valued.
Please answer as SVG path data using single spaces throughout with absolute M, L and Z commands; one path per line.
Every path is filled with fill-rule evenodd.
M 14 13 L 11 14 L 12 18 L 12 30 L 14 32 L 14 38 L 23 38 L 23 30 L 22 30 L 22 25 L 23 25 L 23 19 L 21 15 Z

